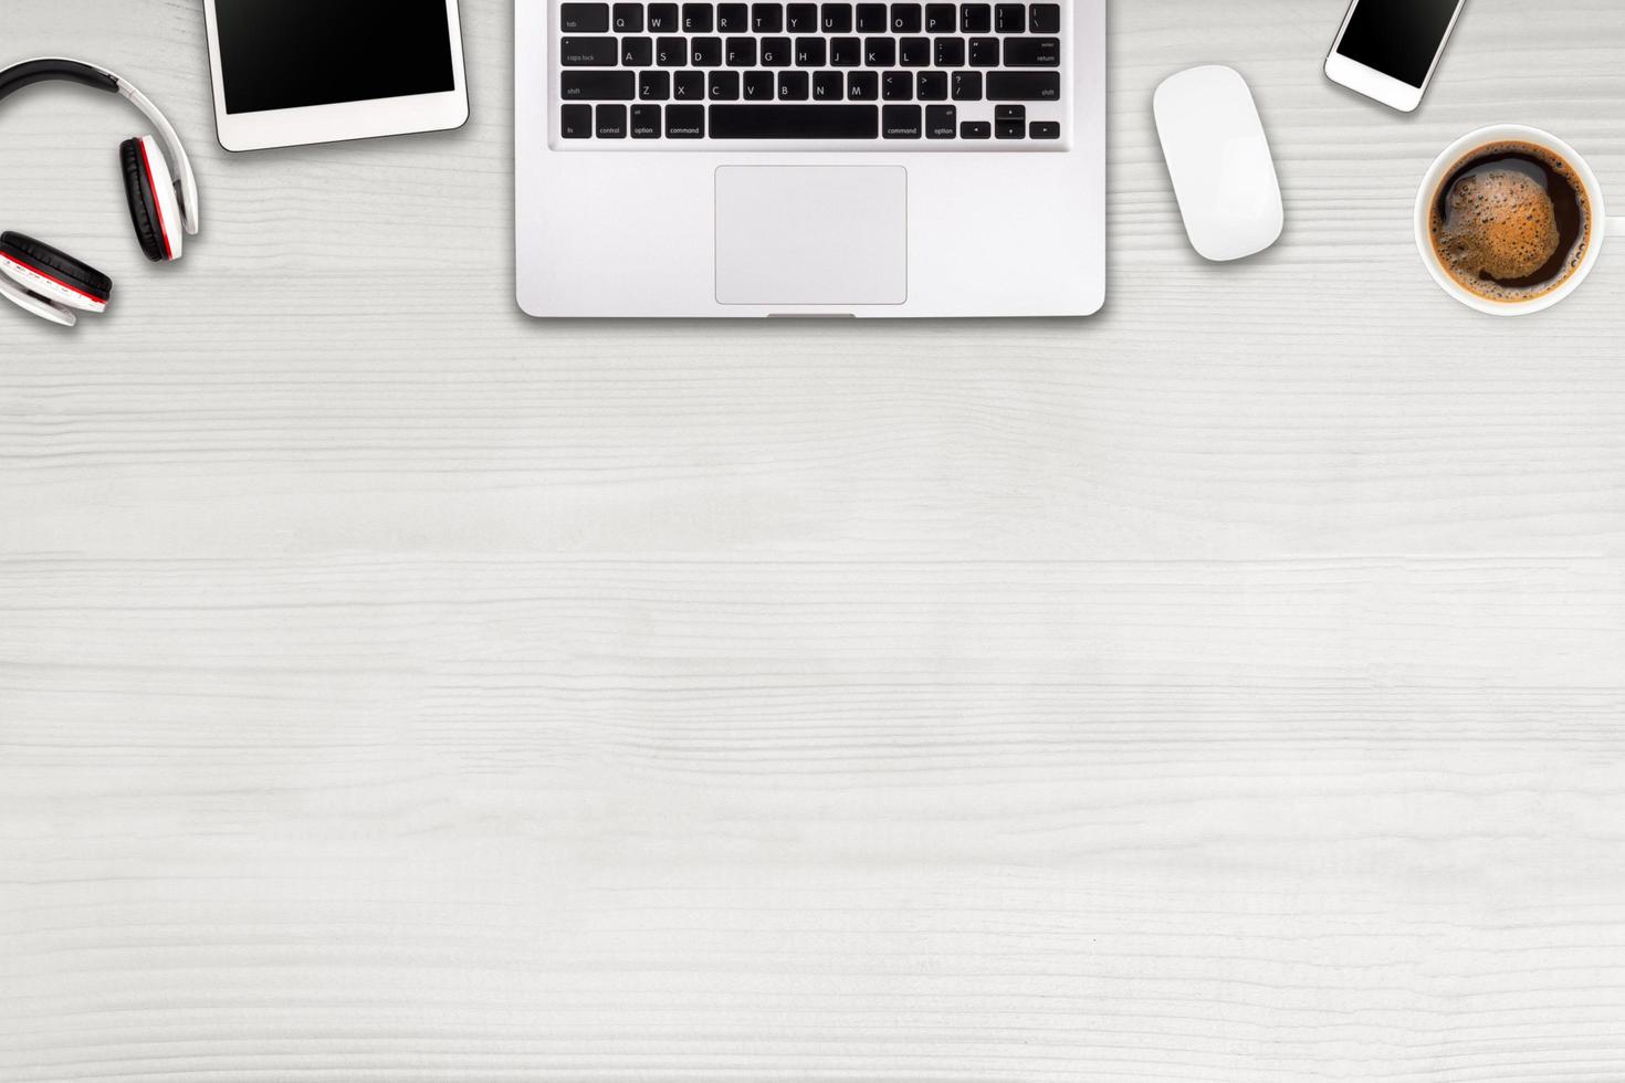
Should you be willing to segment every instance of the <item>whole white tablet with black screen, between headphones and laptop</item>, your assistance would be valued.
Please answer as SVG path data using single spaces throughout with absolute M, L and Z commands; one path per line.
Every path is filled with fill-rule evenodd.
M 457 0 L 205 0 L 228 151 L 468 120 Z

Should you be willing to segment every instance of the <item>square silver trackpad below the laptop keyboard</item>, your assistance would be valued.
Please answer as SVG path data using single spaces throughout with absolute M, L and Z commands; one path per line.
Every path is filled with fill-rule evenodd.
M 718 304 L 900 305 L 905 300 L 907 169 L 717 169 Z

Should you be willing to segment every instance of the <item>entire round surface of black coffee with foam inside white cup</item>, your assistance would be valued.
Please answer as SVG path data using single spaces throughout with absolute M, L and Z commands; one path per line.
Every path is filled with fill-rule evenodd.
M 1462 157 L 1433 200 L 1433 252 L 1461 286 L 1518 304 L 1580 270 L 1591 201 L 1575 169 L 1532 143 L 1492 143 Z

